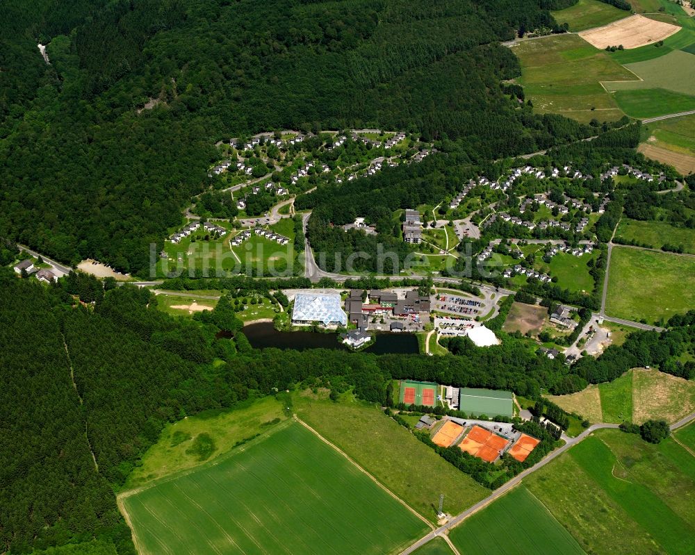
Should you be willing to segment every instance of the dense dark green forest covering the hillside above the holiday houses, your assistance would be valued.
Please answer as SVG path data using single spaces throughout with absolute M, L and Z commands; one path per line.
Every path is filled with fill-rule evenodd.
M 216 141 L 379 126 L 472 160 L 589 133 L 502 93 L 537 0 L 13 0 L 0 14 L 0 235 L 144 272 Z M 48 43 L 50 65 L 36 44 Z M 148 109 L 145 108 L 147 104 Z

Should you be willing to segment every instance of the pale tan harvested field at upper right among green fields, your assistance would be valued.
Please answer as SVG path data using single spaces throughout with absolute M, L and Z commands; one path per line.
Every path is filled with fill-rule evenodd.
M 605 47 L 622 44 L 624 48 L 631 49 L 664 40 L 678 33 L 680 29 L 677 25 L 657 22 L 641 15 L 632 15 L 578 34 L 596 48 L 605 49 Z

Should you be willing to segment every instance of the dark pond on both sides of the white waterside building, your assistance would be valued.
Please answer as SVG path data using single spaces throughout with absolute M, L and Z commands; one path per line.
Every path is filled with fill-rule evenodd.
M 261 322 L 244 326 L 244 335 L 254 349 L 275 347 L 277 349 L 342 349 L 336 333 L 314 333 L 313 331 L 277 331 L 272 322 Z M 411 333 L 378 333 L 377 341 L 365 352 L 374 354 L 417 354 L 418 338 Z

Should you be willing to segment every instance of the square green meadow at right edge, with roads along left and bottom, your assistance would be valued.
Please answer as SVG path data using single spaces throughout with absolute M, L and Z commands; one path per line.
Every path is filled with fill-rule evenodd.
M 613 247 L 606 313 L 647 323 L 695 306 L 695 258 Z

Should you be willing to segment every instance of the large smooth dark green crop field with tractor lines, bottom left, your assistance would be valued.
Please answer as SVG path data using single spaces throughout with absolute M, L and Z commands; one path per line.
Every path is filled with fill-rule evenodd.
M 121 498 L 140 554 L 386 554 L 427 526 L 301 424 Z

